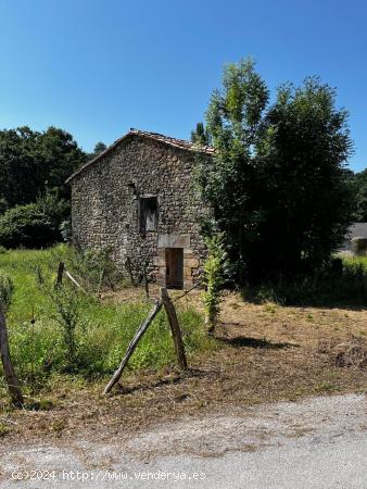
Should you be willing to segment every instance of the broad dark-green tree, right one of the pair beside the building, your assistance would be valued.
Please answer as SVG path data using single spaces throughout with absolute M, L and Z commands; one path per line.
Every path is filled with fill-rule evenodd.
M 345 183 L 352 152 L 347 113 L 317 77 L 278 89 L 257 156 L 267 175 L 268 214 L 262 228 L 268 269 L 309 273 L 342 242 L 353 200 Z M 278 237 L 278 238 L 277 238 Z

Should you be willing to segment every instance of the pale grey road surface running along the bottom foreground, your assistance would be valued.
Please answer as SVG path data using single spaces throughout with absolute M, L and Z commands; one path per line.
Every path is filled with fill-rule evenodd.
M 0 449 L 1 488 L 367 488 L 365 396 L 155 426 L 111 444 Z M 51 482 L 51 484 L 50 484 Z

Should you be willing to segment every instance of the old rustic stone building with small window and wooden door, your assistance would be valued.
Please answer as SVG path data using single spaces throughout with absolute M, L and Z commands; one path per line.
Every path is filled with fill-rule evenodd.
M 198 217 L 207 209 L 194 191 L 195 154 L 213 149 L 130 129 L 75 172 L 72 225 L 75 244 L 105 249 L 136 277 L 144 263 L 153 279 L 188 288 L 205 256 Z

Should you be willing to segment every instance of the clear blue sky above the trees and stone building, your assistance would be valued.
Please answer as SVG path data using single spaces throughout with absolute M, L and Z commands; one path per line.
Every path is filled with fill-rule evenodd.
M 271 90 L 319 75 L 367 166 L 363 0 L 0 0 L 0 128 L 55 125 L 85 150 L 129 127 L 188 138 L 225 63 Z

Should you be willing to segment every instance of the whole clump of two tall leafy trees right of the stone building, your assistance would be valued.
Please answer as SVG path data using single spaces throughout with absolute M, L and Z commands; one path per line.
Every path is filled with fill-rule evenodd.
M 313 274 L 350 223 L 347 114 L 318 78 L 269 91 L 253 61 L 226 67 L 206 114 L 216 153 L 199 184 L 237 279 Z

